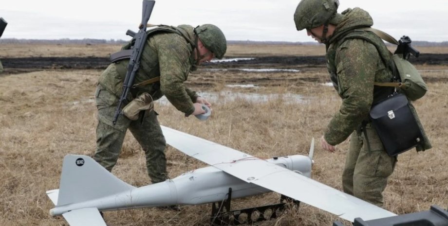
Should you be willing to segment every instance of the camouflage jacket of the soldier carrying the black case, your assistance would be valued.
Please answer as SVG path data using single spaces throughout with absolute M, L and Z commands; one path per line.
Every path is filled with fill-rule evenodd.
M 349 9 L 327 42 L 327 68 L 337 93 L 342 98 L 340 109 L 334 115 L 324 133 L 325 140 L 336 145 L 347 139 L 363 120 L 369 119 L 372 104 L 392 93 L 393 89 L 376 87 L 373 82 L 390 82 L 392 70 L 383 62 L 375 46 L 383 41 L 370 34 L 373 45 L 359 38 L 349 38 L 356 29 L 370 27 L 373 20 L 360 9 Z M 361 31 L 363 32 L 363 31 Z M 386 49 L 387 50 L 387 49 Z M 389 57 L 390 56 L 386 56 Z

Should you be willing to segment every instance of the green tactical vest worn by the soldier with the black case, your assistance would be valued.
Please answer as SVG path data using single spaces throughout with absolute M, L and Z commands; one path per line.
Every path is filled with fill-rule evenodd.
M 390 75 L 384 75 L 382 78 L 379 78 L 380 80 L 377 80 L 378 78 L 375 78 L 375 82 L 384 83 L 384 82 L 393 82 L 396 80 L 396 72 L 395 72 L 395 65 L 393 64 L 391 55 L 392 53 L 387 49 L 386 45 L 384 45 L 384 42 L 381 38 L 379 38 L 377 35 L 375 35 L 373 32 L 365 31 L 362 29 L 353 29 L 345 32 L 346 35 L 341 35 L 342 37 L 338 39 L 334 44 L 327 46 L 327 69 L 330 73 L 330 79 L 333 83 L 333 86 L 335 87 L 336 91 L 340 95 L 342 90 L 339 87 L 338 78 L 337 78 L 337 70 L 336 70 L 336 50 L 339 48 L 339 46 L 344 43 L 348 39 L 362 39 L 365 40 L 373 46 L 375 46 L 376 50 L 378 51 L 378 54 L 381 58 L 381 61 L 383 62 L 386 69 L 389 69 L 391 71 Z M 377 103 L 384 98 L 386 98 L 388 95 L 392 94 L 394 91 L 393 87 L 378 87 L 374 86 L 373 88 L 373 104 Z

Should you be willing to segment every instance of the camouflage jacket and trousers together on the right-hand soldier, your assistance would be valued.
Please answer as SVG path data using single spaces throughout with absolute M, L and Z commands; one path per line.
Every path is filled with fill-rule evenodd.
M 373 20 L 369 14 L 355 8 L 342 15 L 342 21 L 326 43 L 328 70 L 342 98 L 339 111 L 324 133 L 325 140 L 331 145 L 347 139 L 361 126 L 362 121 L 369 119 L 368 114 L 375 99 L 373 82 L 388 82 L 392 78 L 392 71 L 382 61 L 375 45 L 363 39 L 344 39 L 355 28 L 372 26 Z M 384 45 L 379 38 L 375 41 L 378 45 Z M 387 96 L 390 91 L 384 89 L 384 94 Z M 382 206 L 382 191 L 387 185 L 388 176 L 393 172 L 395 158 L 387 155 L 370 124 L 365 127 L 369 142 L 361 132 L 355 132 L 351 137 L 343 187 L 349 194 Z

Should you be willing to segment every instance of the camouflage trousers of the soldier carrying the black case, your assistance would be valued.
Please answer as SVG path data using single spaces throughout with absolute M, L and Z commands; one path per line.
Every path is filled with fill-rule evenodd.
M 362 131 L 355 131 L 350 136 L 342 186 L 345 193 L 382 207 L 382 192 L 395 168 L 396 157 L 386 153 L 370 123 L 366 125 L 366 134 L 370 151 Z

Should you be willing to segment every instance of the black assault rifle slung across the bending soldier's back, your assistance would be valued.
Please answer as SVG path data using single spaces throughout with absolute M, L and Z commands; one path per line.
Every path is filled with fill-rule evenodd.
M 143 47 L 145 47 L 146 38 L 146 27 L 148 24 L 149 17 L 151 16 L 152 8 L 154 8 L 154 0 L 143 0 L 143 14 L 142 23 L 140 24 L 138 33 L 131 30 L 126 32 L 126 35 L 132 37 L 131 43 L 131 58 L 129 59 L 128 72 L 126 72 L 126 78 L 123 82 L 123 92 L 121 93 L 120 101 L 118 102 L 117 109 L 115 110 L 115 115 L 113 116 L 112 123 L 115 125 L 118 119 L 118 115 L 121 113 L 121 105 L 127 99 L 128 93 L 134 83 L 135 73 L 140 67 L 140 56 L 143 52 Z M 111 56 L 112 57 L 112 56 Z

